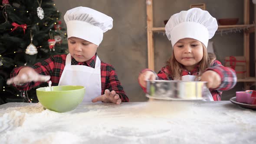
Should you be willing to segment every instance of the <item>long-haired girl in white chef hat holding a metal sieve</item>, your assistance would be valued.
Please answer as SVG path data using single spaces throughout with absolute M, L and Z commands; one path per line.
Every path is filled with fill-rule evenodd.
M 173 46 L 172 56 L 158 74 L 150 69 L 141 71 L 138 80 L 144 91 L 148 79 L 200 80 L 207 82 L 207 100 L 221 100 L 222 91 L 236 85 L 236 72 L 207 53 L 208 40 L 217 29 L 217 20 L 200 8 L 171 16 L 165 33 Z

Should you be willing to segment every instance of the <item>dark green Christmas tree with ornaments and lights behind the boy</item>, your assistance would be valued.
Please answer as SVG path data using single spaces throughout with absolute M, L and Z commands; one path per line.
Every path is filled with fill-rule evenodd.
M 24 92 L 6 82 L 15 67 L 67 53 L 61 13 L 53 0 L 2 0 L 0 13 L 0 104 L 37 102 L 36 88 Z

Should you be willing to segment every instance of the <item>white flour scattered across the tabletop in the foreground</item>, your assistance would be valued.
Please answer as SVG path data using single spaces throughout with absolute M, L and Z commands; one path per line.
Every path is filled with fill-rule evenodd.
M 1 144 L 255 143 L 256 111 L 191 102 L 83 104 L 57 113 L 42 105 L 0 109 Z M 239 135 L 239 137 L 238 137 Z

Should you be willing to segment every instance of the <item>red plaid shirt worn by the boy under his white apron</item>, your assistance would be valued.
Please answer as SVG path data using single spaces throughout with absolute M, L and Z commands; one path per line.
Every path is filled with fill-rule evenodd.
M 73 57 L 71 60 L 71 65 L 86 65 L 94 68 L 96 62 L 96 56 L 92 57 L 86 62 L 77 62 Z M 56 55 L 51 56 L 49 59 L 46 59 L 43 62 L 38 62 L 35 65 L 31 66 L 41 75 L 51 75 L 52 85 L 56 86 L 59 84 L 59 79 L 64 70 L 66 62 L 66 55 Z M 23 67 L 15 68 L 13 72 L 11 72 L 10 77 L 14 77 L 18 74 L 20 69 Z M 105 89 L 109 89 L 110 91 L 114 90 L 121 98 L 122 102 L 128 102 L 129 99 L 125 95 L 124 89 L 121 86 L 120 81 L 115 73 L 115 68 L 105 62 L 101 62 L 101 82 L 102 82 L 102 95 L 105 92 Z M 41 85 L 42 82 L 30 82 L 24 85 L 14 85 L 19 90 L 30 90 L 33 87 Z M 45 83 L 44 83 L 45 84 Z

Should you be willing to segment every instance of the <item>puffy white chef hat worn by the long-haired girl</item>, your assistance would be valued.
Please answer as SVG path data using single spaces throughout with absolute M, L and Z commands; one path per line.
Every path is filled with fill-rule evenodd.
M 180 39 L 191 38 L 200 41 L 207 48 L 208 40 L 217 29 L 217 20 L 208 11 L 192 8 L 171 16 L 165 26 L 165 33 L 172 46 Z

